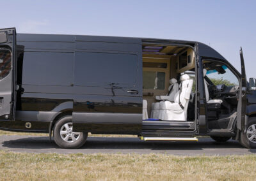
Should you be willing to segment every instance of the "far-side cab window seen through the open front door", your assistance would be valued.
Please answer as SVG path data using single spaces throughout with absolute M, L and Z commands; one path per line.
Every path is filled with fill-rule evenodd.
M 207 68 L 206 76 L 211 80 L 214 85 L 225 84 L 226 86 L 239 85 L 238 79 L 227 66 L 221 64 L 211 64 L 211 66 L 205 65 Z

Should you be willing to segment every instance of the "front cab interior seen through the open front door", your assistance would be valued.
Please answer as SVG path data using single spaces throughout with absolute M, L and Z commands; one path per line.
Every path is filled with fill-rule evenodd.
M 232 129 L 237 114 L 239 80 L 222 62 L 205 60 L 203 64 L 208 128 Z

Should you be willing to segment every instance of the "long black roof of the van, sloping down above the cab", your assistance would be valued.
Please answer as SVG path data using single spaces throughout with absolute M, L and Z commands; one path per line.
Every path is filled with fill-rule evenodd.
M 68 34 L 17 34 L 18 45 L 23 44 L 22 41 L 34 41 L 34 42 L 62 42 L 67 43 L 67 47 L 71 49 L 74 46 L 70 43 L 75 43 L 77 41 L 96 41 L 96 42 L 112 42 L 112 43 L 131 43 L 140 44 L 141 43 L 175 43 L 180 45 L 191 45 L 194 47 L 195 44 L 198 45 L 198 54 L 201 57 L 214 57 L 216 59 L 226 60 L 221 54 L 216 50 L 200 43 L 198 41 L 186 41 L 186 40 L 167 40 L 167 39 L 156 39 L 156 38 L 131 38 L 131 37 L 118 37 L 118 36 L 88 36 L 88 35 L 68 35 Z

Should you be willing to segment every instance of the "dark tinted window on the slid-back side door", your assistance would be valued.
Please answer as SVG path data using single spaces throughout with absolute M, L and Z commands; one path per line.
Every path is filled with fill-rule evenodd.
M 74 83 L 132 87 L 136 81 L 137 59 L 134 54 L 76 52 Z

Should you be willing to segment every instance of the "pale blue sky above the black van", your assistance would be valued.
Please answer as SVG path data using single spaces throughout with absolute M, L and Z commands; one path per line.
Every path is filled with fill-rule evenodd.
M 17 33 L 82 34 L 200 41 L 256 77 L 256 1 L 22 0 L 1 2 L 0 28 Z M 4 8 L 5 7 L 5 8 Z

